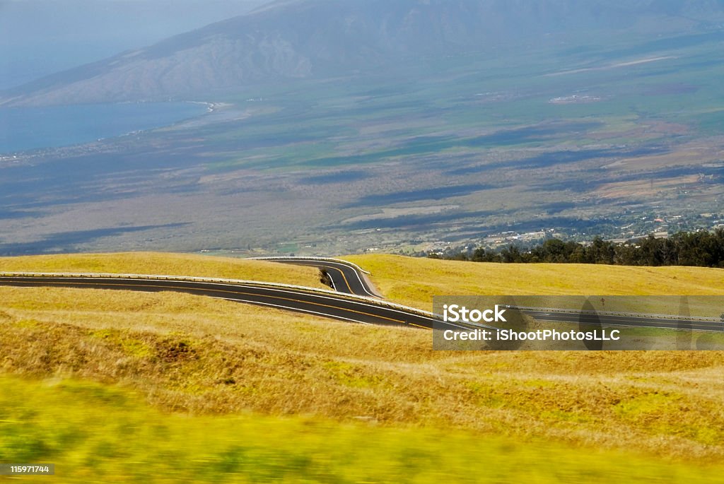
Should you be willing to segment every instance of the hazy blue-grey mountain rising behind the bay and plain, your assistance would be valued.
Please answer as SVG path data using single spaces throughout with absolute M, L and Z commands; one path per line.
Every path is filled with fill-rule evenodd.
M 14 88 L 0 105 L 184 98 L 561 33 L 723 19 L 722 0 L 285 0 Z

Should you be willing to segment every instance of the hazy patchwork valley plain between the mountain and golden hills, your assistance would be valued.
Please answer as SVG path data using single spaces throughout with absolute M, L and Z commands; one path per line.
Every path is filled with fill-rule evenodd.
M 42 192 L 8 188 L 0 254 L 411 252 L 505 231 L 711 229 L 697 217 L 724 211 L 722 40 L 592 37 L 251 86 L 172 127 L 21 156 L 17 186 Z M 66 184 L 37 182 L 56 166 Z

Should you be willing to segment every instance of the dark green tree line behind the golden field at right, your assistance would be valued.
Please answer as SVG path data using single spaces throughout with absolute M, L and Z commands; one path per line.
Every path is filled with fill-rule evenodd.
M 508 245 L 429 255 L 432 258 L 500 263 L 578 263 L 617 266 L 699 266 L 724 268 L 724 229 L 678 232 L 667 239 L 653 235 L 628 242 L 596 237 L 589 244 L 548 239 L 533 247 Z

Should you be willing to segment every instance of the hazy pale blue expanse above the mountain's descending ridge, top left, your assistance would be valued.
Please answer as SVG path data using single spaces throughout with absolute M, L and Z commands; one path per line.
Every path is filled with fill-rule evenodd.
M 0 0 L 0 90 L 251 12 L 264 1 Z

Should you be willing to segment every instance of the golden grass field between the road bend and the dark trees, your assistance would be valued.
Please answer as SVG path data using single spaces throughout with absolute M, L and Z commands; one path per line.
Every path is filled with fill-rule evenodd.
M 371 271 L 385 297 L 432 310 L 441 295 L 724 294 L 724 270 L 586 264 L 497 264 L 408 258 L 346 257 Z

